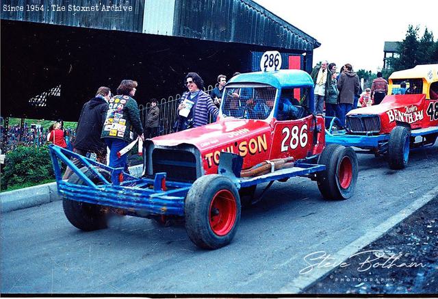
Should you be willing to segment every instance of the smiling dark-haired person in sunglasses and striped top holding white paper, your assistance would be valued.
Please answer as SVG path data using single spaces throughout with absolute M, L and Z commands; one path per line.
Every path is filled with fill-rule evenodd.
M 203 92 L 204 81 L 197 73 L 188 73 L 185 76 L 185 85 L 188 92 L 184 92 L 181 96 L 181 104 L 178 106 L 178 111 L 185 108 L 184 101 L 188 99 L 194 102 L 187 118 L 179 115 L 179 127 L 177 131 L 182 131 L 190 127 L 201 127 L 207 125 L 208 114 L 213 116 L 214 120 L 218 117 L 219 109 L 214 105 L 209 94 Z

